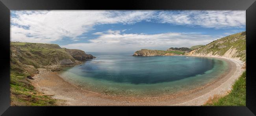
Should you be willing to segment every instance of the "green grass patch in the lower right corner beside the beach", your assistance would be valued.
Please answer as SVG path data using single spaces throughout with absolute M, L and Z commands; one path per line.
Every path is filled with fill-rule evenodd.
M 246 106 L 246 72 L 236 80 L 228 95 L 211 100 L 205 106 Z

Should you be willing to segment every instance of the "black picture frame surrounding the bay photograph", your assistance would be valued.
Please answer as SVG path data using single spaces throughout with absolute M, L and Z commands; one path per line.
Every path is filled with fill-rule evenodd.
M 10 10 L 246 10 L 246 49 L 247 49 L 247 102 L 246 107 L 158 107 L 162 113 L 189 113 L 204 116 L 255 116 L 256 114 L 256 78 L 254 51 L 256 50 L 256 2 L 255 0 L 120 0 L 120 1 L 84 1 L 84 0 L 0 0 L 0 114 L 9 115 L 48 115 L 52 112 L 93 112 L 91 109 L 106 110 L 106 107 L 14 107 L 10 106 Z M 143 107 L 153 112 L 156 107 Z M 164 110 L 163 110 L 164 108 Z M 108 107 L 108 111 L 117 107 Z M 133 114 L 138 107 L 118 107 L 125 114 Z M 94 113 L 106 113 L 98 111 Z M 111 113 L 111 112 L 108 112 Z M 112 112 L 113 113 L 113 112 Z M 136 113 L 137 114 L 137 113 Z M 159 113 L 158 113 L 159 114 Z

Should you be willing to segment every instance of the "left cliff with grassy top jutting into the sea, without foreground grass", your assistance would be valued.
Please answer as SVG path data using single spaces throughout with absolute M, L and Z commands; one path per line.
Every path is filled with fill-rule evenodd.
M 82 50 L 61 48 L 57 44 L 11 42 L 11 70 L 26 74 L 35 74 L 37 68 L 47 68 L 51 65 L 76 64 L 77 58 L 92 59 L 92 55 Z

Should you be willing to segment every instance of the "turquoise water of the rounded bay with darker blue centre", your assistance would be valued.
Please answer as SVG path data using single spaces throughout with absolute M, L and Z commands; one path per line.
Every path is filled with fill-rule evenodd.
M 225 61 L 206 57 L 93 55 L 97 58 L 66 68 L 59 75 L 101 94 L 155 97 L 200 87 L 227 70 Z

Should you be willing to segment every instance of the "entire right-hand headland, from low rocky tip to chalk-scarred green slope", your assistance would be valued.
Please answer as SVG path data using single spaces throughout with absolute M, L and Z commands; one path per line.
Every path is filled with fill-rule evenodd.
M 169 48 L 167 50 L 136 51 L 133 56 L 187 55 L 199 57 L 226 57 L 246 61 L 246 31 L 217 39 L 207 45 L 191 48 Z

